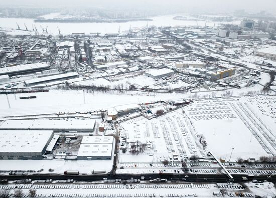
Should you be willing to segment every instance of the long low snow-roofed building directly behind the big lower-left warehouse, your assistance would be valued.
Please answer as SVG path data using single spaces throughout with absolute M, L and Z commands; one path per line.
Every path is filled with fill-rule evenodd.
M 93 132 L 95 121 L 91 119 L 77 120 L 6 120 L 1 123 L 1 130 L 53 130 L 54 132 Z

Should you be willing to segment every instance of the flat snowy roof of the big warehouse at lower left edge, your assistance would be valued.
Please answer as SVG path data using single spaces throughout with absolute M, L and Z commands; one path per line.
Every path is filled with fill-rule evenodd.
M 42 152 L 53 134 L 51 130 L 0 131 L 0 153 Z

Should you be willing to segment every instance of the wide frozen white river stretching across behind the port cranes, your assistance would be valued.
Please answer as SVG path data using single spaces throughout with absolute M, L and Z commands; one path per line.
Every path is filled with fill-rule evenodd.
M 1 28 L 17 28 L 17 23 L 22 29 L 25 29 L 24 24 L 29 30 L 32 30 L 32 26 L 35 25 L 39 32 L 42 33 L 41 26 L 45 29 L 48 26 L 48 32 L 53 35 L 58 34 L 57 27 L 59 27 L 61 34 L 68 35 L 72 33 L 117 33 L 120 27 L 120 32 L 128 31 L 129 27 L 141 28 L 147 26 L 204 26 L 206 21 L 178 21 L 173 18 L 176 15 L 160 16 L 151 18 L 153 21 L 135 21 L 125 23 L 35 23 L 32 19 L 19 19 L 19 18 L 0 18 Z M 229 23 L 229 22 L 228 22 Z M 239 24 L 239 22 L 230 22 L 231 24 Z M 207 26 L 216 26 L 217 23 L 208 22 Z

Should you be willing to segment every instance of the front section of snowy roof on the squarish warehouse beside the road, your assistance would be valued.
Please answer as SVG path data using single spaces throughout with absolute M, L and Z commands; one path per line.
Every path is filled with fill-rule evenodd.
M 111 156 L 112 144 L 81 144 L 78 156 Z

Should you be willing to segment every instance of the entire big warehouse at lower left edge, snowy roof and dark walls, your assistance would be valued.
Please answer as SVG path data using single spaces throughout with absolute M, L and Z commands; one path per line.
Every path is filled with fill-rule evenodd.
M 53 136 L 51 130 L 1 130 L 0 159 L 42 159 Z

